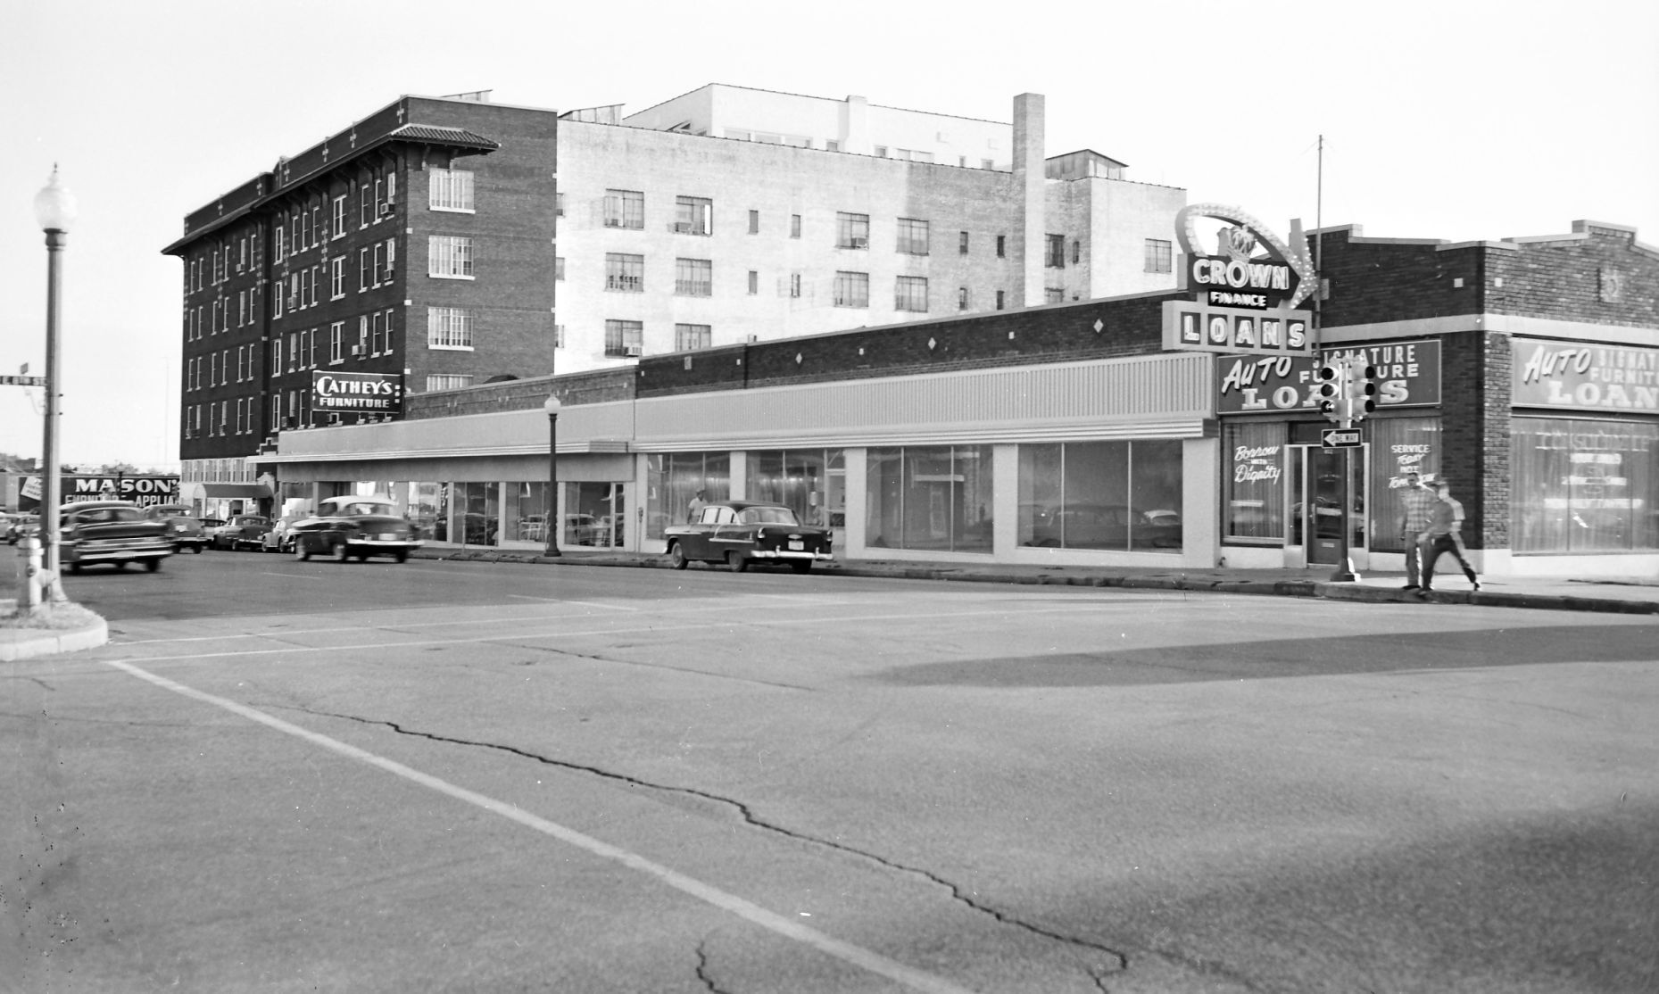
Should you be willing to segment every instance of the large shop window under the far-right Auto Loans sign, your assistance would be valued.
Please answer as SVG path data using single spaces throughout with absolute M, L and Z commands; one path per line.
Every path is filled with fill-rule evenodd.
M 1516 553 L 1659 549 L 1659 425 L 1515 418 L 1510 438 Z

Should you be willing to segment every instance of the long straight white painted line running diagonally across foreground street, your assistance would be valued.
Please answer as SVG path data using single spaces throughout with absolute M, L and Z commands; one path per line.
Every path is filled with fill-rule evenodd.
M 438 777 L 433 777 L 430 773 L 421 773 L 420 770 L 415 770 L 411 767 L 405 767 L 403 763 L 398 763 L 395 760 L 388 760 L 388 758 L 385 758 L 382 755 L 375 755 L 375 753 L 367 752 L 363 748 L 357 748 L 355 745 L 347 745 L 345 742 L 340 742 L 338 738 L 330 738 L 330 737 L 322 735 L 319 732 L 312 732 L 309 728 L 302 728 L 302 727 L 294 725 L 290 722 L 284 722 L 282 719 L 267 715 L 265 712 L 255 710 L 255 709 L 247 707 L 244 704 L 237 704 L 237 702 L 227 700 L 224 697 L 216 697 L 212 694 L 206 694 L 202 690 L 196 690 L 194 687 L 186 687 L 184 684 L 178 684 L 178 682 L 169 680 L 166 677 L 159 677 L 159 675 L 151 674 L 148 670 L 143 670 L 143 669 L 139 669 L 139 667 L 136 667 L 136 665 L 133 665 L 129 662 L 106 660 L 106 664 L 111 665 L 111 667 L 114 667 L 114 669 L 118 669 L 118 670 L 121 670 L 121 672 L 134 675 L 134 677 L 138 677 L 141 680 L 148 680 L 148 682 L 154 684 L 156 687 L 161 687 L 163 690 L 171 690 L 174 694 L 181 694 L 181 695 L 189 697 L 192 700 L 199 700 L 202 704 L 211 704 L 214 707 L 224 709 L 224 710 L 227 710 L 227 712 L 231 712 L 234 715 L 241 715 L 241 717 L 244 717 L 244 719 L 247 719 L 251 722 L 259 722 L 260 725 L 265 725 L 267 728 L 275 728 L 277 732 L 282 732 L 284 735 L 294 735 L 295 738 L 302 738 L 305 742 L 310 742 L 312 745 L 319 745 L 322 748 L 327 748 L 330 752 L 343 755 L 343 757 L 347 757 L 350 760 L 357 760 L 360 763 L 368 763 L 370 767 L 375 767 L 375 768 L 383 770 L 387 773 L 392 773 L 395 777 L 403 777 L 405 780 L 418 783 L 418 785 L 421 785 L 421 787 L 428 788 L 428 790 L 435 790 L 435 792 L 448 795 L 448 797 L 451 797 L 455 800 L 460 800 L 460 802 L 479 806 L 479 808 L 483 808 L 483 810 L 486 810 L 486 811 L 489 811 L 493 815 L 499 815 L 503 818 L 508 818 L 509 821 L 518 821 L 519 825 L 523 825 L 526 828 L 531 828 L 531 830 L 539 831 L 542 835 L 549 835 L 549 836 L 552 836 L 552 838 L 556 838 L 556 840 L 559 840 L 562 843 L 572 845 L 572 846 L 576 846 L 579 850 L 584 850 L 587 853 L 592 853 L 592 855 L 601 856 L 604 860 L 612 860 L 615 863 L 620 863 L 620 865 L 627 866 L 629 870 L 637 870 L 637 871 L 640 871 L 640 873 L 644 873 L 647 876 L 654 876 L 659 881 L 672 886 L 674 889 L 682 891 L 685 894 L 690 894 L 690 896 L 697 898 L 698 901 L 705 901 L 708 904 L 713 904 L 715 908 L 718 908 L 722 911 L 728 911 L 732 914 L 737 914 L 738 918 L 742 918 L 745 921 L 750 921 L 753 924 L 758 924 L 763 929 L 768 929 L 768 931 L 776 933 L 776 934 L 780 934 L 783 938 L 788 938 L 788 939 L 795 939 L 796 943 L 803 943 L 806 946 L 811 946 L 811 948 L 818 949 L 820 953 L 826 953 L 830 956 L 834 956 L 836 959 L 846 961 L 846 962 L 849 962 L 849 964 L 853 964 L 856 967 L 861 967 L 861 969 L 866 969 L 866 971 L 869 971 L 873 974 L 888 977 L 889 981 L 896 981 L 899 984 L 904 984 L 906 987 L 909 987 L 912 991 L 924 991 L 927 994 L 972 994 L 967 987 L 959 987 L 959 986 L 956 986 L 956 984 L 952 984 L 952 982 L 949 982 L 949 981 L 946 981 L 942 977 L 936 977 L 936 976 L 932 976 L 929 972 L 922 972 L 919 969 L 912 969 L 909 966 L 904 966 L 902 962 L 896 962 L 893 959 L 888 959 L 886 956 L 881 956 L 879 953 L 871 953 L 869 949 L 864 949 L 864 948 L 859 948 L 859 946 L 853 946 L 851 943 L 843 943 L 841 939 L 834 939 L 831 936 L 826 936 L 826 934 L 820 933 L 818 929 L 810 929 L 810 928 L 800 924 L 798 921 L 795 921 L 791 918 L 785 918 L 783 914 L 776 914 L 773 911 L 766 911 L 765 908 L 761 908 L 761 906 L 758 906 L 758 904 L 755 904 L 752 901 L 745 901 L 743 898 L 738 898 L 737 894 L 730 894 L 727 891 L 722 891 L 720 888 L 717 888 L 713 884 L 707 884 L 707 883 L 703 883 L 700 879 L 695 879 L 695 878 L 685 876 L 684 873 L 670 870 L 670 868 L 667 868 L 667 866 L 664 866 L 660 863 L 654 863 L 654 861 L 640 856 L 639 853 L 632 853 L 629 850 L 624 850 L 624 848 L 614 846 L 611 843 L 601 841 L 601 840 L 597 840 L 597 838 L 594 838 L 591 835 L 584 835 L 581 831 L 576 831 L 574 828 L 567 828 L 564 825 L 559 825 L 557 821 L 547 821 L 546 818 L 539 818 L 536 815 L 531 815 L 529 811 L 526 811 L 523 808 L 518 808 L 514 805 L 509 805 L 506 802 L 499 802 L 499 800 L 494 800 L 491 797 L 484 797 L 484 795 L 481 795 L 478 792 L 466 790 L 465 787 L 456 787 L 455 783 L 450 783 L 448 780 L 440 780 Z

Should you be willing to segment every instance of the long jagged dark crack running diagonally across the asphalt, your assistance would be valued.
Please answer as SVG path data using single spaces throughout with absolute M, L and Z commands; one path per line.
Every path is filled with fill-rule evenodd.
M 1095 941 L 1090 941 L 1090 939 L 1083 939 L 1083 938 L 1078 938 L 1078 936 L 1068 936 L 1068 934 L 1063 934 L 1063 933 L 1044 928 L 1040 924 L 1035 924 L 1035 923 L 1030 923 L 1030 921 L 1024 921 L 1020 918 L 1014 918 L 1014 916 L 1010 916 L 1010 914 L 1007 914 L 1004 911 L 999 911 L 997 908 L 992 908 L 990 904 L 985 904 L 985 903 L 975 899 L 972 894 L 969 894 L 967 891 L 964 891 L 959 884 L 956 884 L 956 883 L 952 883 L 952 881 L 939 876 L 937 873 L 932 873 L 931 870 L 921 870 L 921 868 L 916 868 L 916 866 L 906 866 L 902 863 L 896 863 L 896 861 L 888 860 L 886 856 L 879 856 L 876 853 L 869 853 L 869 851 L 864 851 L 864 850 L 849 846 L 849 845 L 844 845 L 844 843 L 838 843 L 838 841 L 833 841 L 833 840 L 818 838 L 818 836 L 813 836 L 813 835 L 805 835 L 805 833 L 795 831 L 791 828 L 786 828 L 783 825 L 776 825 L 773 821 L 766 821 L 765 818 L 761 818 L 760 815 L 757 815 L 747 803 L 743 803 L 740 800 L 733 800 L 733 798 L 728 798 L 728 797 L 720 797 L 717 793 L 708 793 L 707 790 L 697 790 L 693 787 L 674 787 L 674 785 L 667 785 L 667 783 L 652 783 L 650 780 L 642 780 L 639 777 L 630 777 L 627 773 L 615 773 L 612 770 L 604 770 L 601 767 L 591 767 L 587 763 L 574 763 L 574 762 L 569 762 L 569 760 L 559 760 L 559 758 L 544 757 L 544 755 L 539 755 L 539 753 L 534 753 L 534 752 L 529 752 L 529 750 L 518 748 L 516 745 L 501 745 L 501 743 L 496 743 L 496 742 L 474 742 L 474 740 L 469 740 L 469 738 L 455 738 L 451 735 L 438 735 L 435 732 L 420 732 L 416 728 L 405 728 L 398 722 L 392 722 L 392 720 L 387 720 L 387 719 L 365 719 L 365 717 L 360 717 L 360 715 L 345 715 L 345 714 L 337 714 L 337 712 L 322 712 L 322 710 L 312 710 L 312 709 L 305 709 L 305 707 L 295 707 L 294 710 L 300 710 L 300 712 L 305 712 L 305 714 L 310 714 L 310 715 L 317 715 L 317 717 L 328 717 L 328 719 L 340 719 L 340 720 L 347 720 L 347 722 L 358 722 L 362 725 L 383 725 L 387 728 L 392 728 L 398 735 L 410 735 L 413 738 L 426 738 L 430 742 L 443 742 L 443 743 L 448 743 L 448 745 L 468 745 L 468 747 L 473 747 L 473 748 L 489 748 L 489 750 L 496 750 L 496 752 L 504 752 L 504 753 L 509 753 L 509 755 L 516 755 L 516 757 L 521 757 L 521 758 L 526 758 L 526 760 L 534 760 L 534 762 L 544 763 L 547 767 L 559 767 L 562 770 L 572 770 L 572 772 L 577 772 L 577 773 L 587 773 L 591 777 L 599 777 L 602 780 L 614 780 L 617 783 L 627 783 L 630 787 L 642 787 L 642 788 L 647 788 L 647 790 L 660 790 L 664 793 L 680 793 L 680 795 L 687 795 L 687 797 L 695 797 L 695 798 L 700 798 L 700 800 L 713 802 L 717 805 L 723 805 L 723 806 L 732 808 L 733 811 L 737 811 L 738 816 L 743 818 L 743 823 L 748 825 L 748 826 L 752 826 L 752 828 L 760 828 L 763 831 L 771 831 L 771 833 L 781 835 L 785 838 L 791 838 L 795 841 L 803 841 L 803 843 L 808 843 L 808 845 L 815 845 L 815 846 L 821 846 L 821 848 L 833 850 L 833 851 L 838 851 L 838 853 L 844 853 L 844 855 L 849 855 L 849 856 L 856 856 L 859 860 L 866 860 L 869 863 L 874 863 L 876 866 L 881 866 L 884 870 L 893 870 L 896 873 L 902 873 L 902 875 L 907 875 L 907 876 L 916 876 L 916 878 L 924 879 L 924 881 L 927 881 L 927 883 L 931 883 L 934 886 L 944 888 L 946 891 L 951 893 L 951 896 L 959 904 L 962 904 L 962 906 L 966 906 L 966 908 L 969 908 L 972 911 L 977 911 L 980 914 L 985 914 L 985 916 L 995 919 L 999 924 L 1017 928 L 1017 929 L 1022 929 L 1022 931 L 1030 933 L 1034 936 L 1040 936 L 1040 938 L 1050 939 L 1053 943 L 1062 943 L 1065 946 L 1077 946 L 1077 948 L 1082 948 L 1082 949 L 1090 949 L 1093 953 L 1102 953 L 1102 954 L 1105 954 L 1105 956 L 1108 956 L 1112 959 L 1112 967 L 1108 967 L 1105 971 L 1100 971 L 1100 969 L 1095 969 L 1095 967 L 1085 967 L 1085 971 L 1088 972 L 1088 976 L 1095 981 L 1095 986 L 1100 987 L 1102 991 L 1107 989 L 1103 986 L 1103 974 L 1118 974 L 1118 972 L 1126 971 L 1128 966 L 1130 966 L 1128 954 L 1123 953 L 1123 951 L 1120 951 L 1120 949 L 1113 949 L 1110 946 L 1103 946 L 1100 943 L 1095 943 Z

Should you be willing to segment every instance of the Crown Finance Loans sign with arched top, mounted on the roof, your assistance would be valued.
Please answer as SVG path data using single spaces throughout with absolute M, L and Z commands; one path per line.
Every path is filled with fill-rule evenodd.
M 1214 254 L 1201 251 L 1196 219 L 1226 222 Z M 1286 246 L 1238 207 L 1190 204 L 1175 217 L 1185 289 L 1165 300 L 1163 347 L 1244 355 L 1312 355 L 1312 312 L 1297 310 L 1316 285 L 1301 224 Z

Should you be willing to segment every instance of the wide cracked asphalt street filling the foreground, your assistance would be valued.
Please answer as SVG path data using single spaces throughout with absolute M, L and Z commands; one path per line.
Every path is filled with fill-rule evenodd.
M 176 558 L 0 669 L 17 991 L 1649 991 L 1659 624 Z M 15 876 L 15 879 L 13 879 Z

